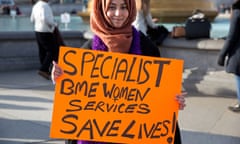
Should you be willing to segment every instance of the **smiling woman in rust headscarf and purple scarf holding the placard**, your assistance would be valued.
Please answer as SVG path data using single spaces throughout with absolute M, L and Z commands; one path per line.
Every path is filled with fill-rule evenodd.
M 160 57 L 158 48 L 137 31 L 132 22 L 136 17 L 135 0 L 93 0 L 92 13 L 90 17 L 91 30 L 94 38 L 84 46 L 93 50 L 109 51 L 117 53 L 129 53 Z M 53 62 L 52 80 L 63 74 L 63 70 Z M 185 107 L 184 95 L 176 94 L 179 108 Z M 175 144 L 181 143 L 180 130 L 177 126 L 175 132 Z M 90 141 L 68 141 L 69 144 L 105 144 L 104 142 Z

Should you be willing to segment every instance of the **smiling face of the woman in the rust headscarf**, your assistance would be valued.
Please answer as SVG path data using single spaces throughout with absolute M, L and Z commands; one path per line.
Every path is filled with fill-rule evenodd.
M 112 0 L 108 10 L 107 17 L 111 21 L 114 27 L 120 28 L 127 20 L 129 15 L 128 7 L 125 0 Z

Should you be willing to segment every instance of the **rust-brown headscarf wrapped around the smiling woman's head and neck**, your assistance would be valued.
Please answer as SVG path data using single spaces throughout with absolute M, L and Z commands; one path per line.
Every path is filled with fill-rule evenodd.
M 93 0 L 90 26 L 107 46 L 108 51 L 128 53 L 132 43 L 132 22 L 136 18 L 135 0 L 125 0 L 129 16 L 121 28 L 115 28 L 107 17 L 112 0 Z

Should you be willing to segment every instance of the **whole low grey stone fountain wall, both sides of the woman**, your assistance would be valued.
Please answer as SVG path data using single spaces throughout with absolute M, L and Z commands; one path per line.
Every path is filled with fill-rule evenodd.
M 80 32 L 62 33 L 66 45 L 81 47 L 92 35 Z M 183 87 L 201 95 L 234 95 L 232 75 L 217 65 L 224 40 L 167 38 L 159 46 L 162 57 L 184 60 Z M 0 72 L 38 69 L 38 47 L 33 32 L 0 33 Z

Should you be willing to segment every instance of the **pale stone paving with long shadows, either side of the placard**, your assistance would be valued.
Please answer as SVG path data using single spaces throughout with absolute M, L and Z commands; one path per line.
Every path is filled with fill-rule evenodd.
M 36 71 L 0 73 L 0 144 L 64 143 L 49 138 L 54 86 Z M 227 110 L 235 97 L 189 91 L 187 107 L 179 113 L 183 144 L 240 144 L 240 113 Z

